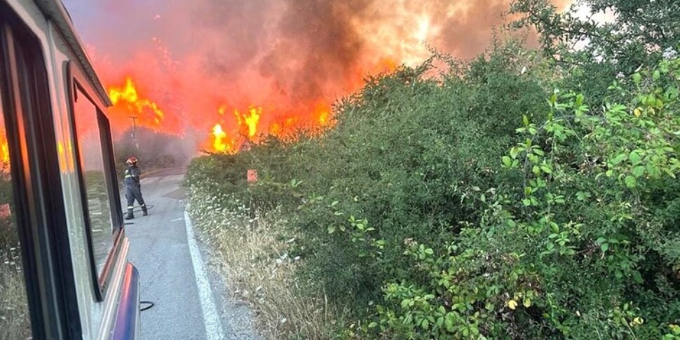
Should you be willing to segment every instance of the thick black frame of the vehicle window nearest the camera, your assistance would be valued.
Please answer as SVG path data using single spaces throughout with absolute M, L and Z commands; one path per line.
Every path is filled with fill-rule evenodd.
M 44 37 L 43 37 L 44 39 Z M 57 158 L 49 53 L 0 1 L 0 93 L 34 339 L 82 337 Z

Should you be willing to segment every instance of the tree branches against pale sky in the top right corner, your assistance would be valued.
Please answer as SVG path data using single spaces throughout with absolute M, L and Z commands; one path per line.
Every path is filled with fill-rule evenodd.
M 577 15 L 576 6 L 589 15 Z M 522 15 L 515 25 L 538 29 L 545 53 L 561 62 L 605 62 L 628 75 L 676 53 L 680 43 L 680 4 L 673 0 L 585 0 L 566 12 L 548 0 L 516 0 L 511 13 Z M 611 18 L 597 21 L 597 14 Z

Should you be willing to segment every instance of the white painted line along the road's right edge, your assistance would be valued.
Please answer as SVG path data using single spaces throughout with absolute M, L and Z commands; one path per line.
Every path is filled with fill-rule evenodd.
M 225 339 L 222 323 L 219 321 L 219 314 L 217 314 L 217 307 L 215 307 L 215 301 L 212 301 L 210 281 L 208 276 L 205 275 L 205 268 L 203 268 L 203 258 L 200 256 L 200 250 L 198 250 L 198 245 L 196 245 L 196 238 L 193 236 L 193 224 L 191 224 L 191 219 L 186 210 L 184 210 L 184 223 L 186 224 L 186 242 L 189 244 L 193 272 L 196 273 L 196 285 L 198 286 L 198 297 L 200 297 L 200 309 L 203 310 L 203 325 L 205 325 L 206 339 Z

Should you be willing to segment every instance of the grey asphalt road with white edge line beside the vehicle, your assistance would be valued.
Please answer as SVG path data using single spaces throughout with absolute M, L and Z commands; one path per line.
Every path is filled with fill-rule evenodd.
M 142 311 L 142 340 L 257 339 L 250 311 L 232 303 L 217 271 L 204 265 L 210 255 L 185 219 L 183 177 L 182 170 L 167 170 L 142 179 L 149 215 L 137 208 L 125 226 L 141 299 L 155 304 Z

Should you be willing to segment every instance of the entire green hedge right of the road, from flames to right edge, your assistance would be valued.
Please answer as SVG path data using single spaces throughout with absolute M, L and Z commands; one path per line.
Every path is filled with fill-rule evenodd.
M 187 182 L 285 214 L 299 275 L 357 320 L 342 336 L 680 336 L 680 62 L 585 81 L 512 44 L 433 61 L 367 78 L 320 136 L 197 158 Z

